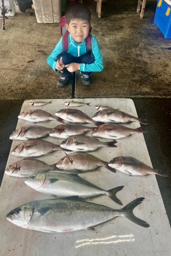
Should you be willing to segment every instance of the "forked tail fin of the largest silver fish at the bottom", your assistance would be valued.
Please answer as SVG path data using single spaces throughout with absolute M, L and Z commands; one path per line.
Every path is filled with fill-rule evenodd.
M 141 227 L 150 227 L 150 225 L 147 222 L 137 218 L 133 213 L 134 208 L 136 208 L 137 205 L 142 203 L 144 199 L 145 199 L 144 197 L 135 199 L 134 201 L 132 201 L 131 203 L 128 203 L 128 205 L 123 207 L 121 211 L 126 211 L 125 217 L 129 219 L 129 221 L 133 221 L 135 224 L 140 225 Z

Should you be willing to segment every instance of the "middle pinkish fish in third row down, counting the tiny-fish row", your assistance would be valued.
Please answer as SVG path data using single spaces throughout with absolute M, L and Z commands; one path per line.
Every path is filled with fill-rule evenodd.
M 81 135 L 87 131 L 93 131 L 94 129 L 95 127 L 79 125 L 78 123 L 65 123 L 56 126 L 56 128 L 49 133 L 49 136 L 67 139 L 70 136 Z

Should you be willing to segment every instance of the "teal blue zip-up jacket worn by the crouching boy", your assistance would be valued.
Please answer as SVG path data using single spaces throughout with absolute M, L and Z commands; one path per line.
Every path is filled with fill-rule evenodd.
M 87 53 L 85 39 L 81 43 L 76 43 L 75 40 L 68 35 L 68 44 L 69 50 L 68 53 L 75 57 L 79 57 L 85 53 Z M 54 48 L 53 52 L 49 55 L 47 62 L 54 71 L 56 70 L 57 64 L 57 56 L 63 52 L 62 49 L 62 38 L 60 38 L 59 43 L 57 43 L 56 47 Z M 87 71 L 87 72 L 96 72 L 103 70 L 103 57 L 101 56 L 100 52 L 100 45 L 96 40 L 95 36 L 92 35 L 92 53 L 94 56 L 94 63 L 93 64 L 80 64 L 80 71 Z

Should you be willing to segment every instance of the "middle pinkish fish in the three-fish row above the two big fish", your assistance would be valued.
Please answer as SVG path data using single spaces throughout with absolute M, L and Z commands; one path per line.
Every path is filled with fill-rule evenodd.
M 93 155 L 85 153 L 72 153 L 70 155 L 66 154 L 66 156 L 60 159 L 59 162 L 56 164 L 56 167 L 59 169 L 70 171 L 76 170 L 79 172 L 97 169 L 100 166 L 104 166 L 108 170 L 111 170 L 111 172 L 115 172 L 115 169 L 109 167 L 107 162 L 96 158 Z

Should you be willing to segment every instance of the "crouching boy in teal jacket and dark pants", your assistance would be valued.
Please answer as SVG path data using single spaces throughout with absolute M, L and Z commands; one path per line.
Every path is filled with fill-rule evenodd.
M 100 53 L 100 46 L 94 35 L 92 37 L 92 50 L 87 52 L 85 38 L 89 35 L 91 26 L 91 12 L 85 5 L 71 4 L 65 13 L 67 20 L 68 51 L 62 49 L 62 38 L 56 48 L 49 55 L 47 61 L 54 71 L 60 75 L 57 81 L 58 86 L 67 86 L 71 81 L 71 72 L 80 70 L 82 83 L 92 83 L 90 73 L 103 70 L 103 58 Z

